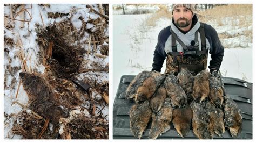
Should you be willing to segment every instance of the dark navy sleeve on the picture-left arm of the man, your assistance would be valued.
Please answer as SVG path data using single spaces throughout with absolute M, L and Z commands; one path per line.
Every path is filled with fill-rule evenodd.
M 154 50 L 152 71 L 156 70 L 160 72 L 161 68 L 163 67 L 164 60 L 167 56 L 166 53 L 164 52 L 166 38 L 163 37 L 163 35 L 166 33 L 165 31 L 166 31 L 166 28 L 164 28 L 164 30 L 162 30 L 158 35 L 157 46 L 156 46 L 156 49 Z

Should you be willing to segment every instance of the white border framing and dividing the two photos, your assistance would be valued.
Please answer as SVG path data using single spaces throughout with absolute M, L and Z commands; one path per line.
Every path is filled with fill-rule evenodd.
M 0 112 L 0 124 L 1 124 L 1 130 L 0 130 L 0 139 L 1 139 L 1 142 L 42 142 L 42 140 L 4 140 L 3 139 L 3 131 L 4 131 L 4 125 L 3 125 L 3 111 L 4 111 L 4 105 L 3 105 L 3 92 L 4 92 L 4 85 L 3 85 L 3 80 L 4 80 L 4 68 L 3 68 L 3 60 L 4 60 L 4 54 L 3 54 L 3 47 L 4 47 L 4 42 L 3 42 L 3 4 L 4 3 L 108 3 L 109 4 L 109 50 L 110 50 L 110 53 L 109 53 L 109 98 L 110 98 L 110 104 L 109 104 L 109 130 L 110 130 L 110 137 L 109 139 L 110 140 L 44 140 L 44 142 L 131 142 L 131 141 L 134 141 L 135 140 L 112 140 L 112 135 L 113 135 L 113 132 L 112 132 L 112 129 L 113 129 L 113 118 L 112 118 L 112 115 L 113 115 L 113 94 L 116 94 L 116 93 L 113 93 L 113 66 L 112 63 L 113 63 L 113 15 L 112 15 L 112 4 L 122 4 L 122 3 L 238 3 L 238 4 L 241 4 L 241 3 L 248 3 L 248 4 L 253 4 L 253 82 L 254 82 L 254 85 L 253 85 L 253 98 L 256 97 L 256 94 L 255 94 L 255 76 L 254 76 L 254 73 L 256 72 L 255 70 L 255 64 L 256 64 L 256 53 L 255 53 L 255 49 L 256 48 L 256 34 L 255 34 L 255 18 L 256 18 L 256 5 L 255 5 L 255 1 L 253 0 L 244 0 L 244 1 L 241 1 L 241 0 L 233 0 L 233 1 L 217 1 L 217 0 L 212 0 L 212 1 L 202 1 L 202 0 L 197 0 L 197 1 L 192 1 L 192 0 L 188 0 L 188 1 L 184 1 L 184 0 L 158 0 L 158 1 L 149 1 L 149 0 L 106 0 L 106 1 L 99 1 L 99 0 L 67 0 L 67 1 L 57 1 L 57 0 L 46 0 L 46 1 L 38 1 L 38 0 L 34 0 L 34 1 L 31 1 L 31 0 L 27 0 L 27 1 L 17 1 L 17 0 L 12 0 L 12 1 L 6 1 L 6 0 L 2 0 L 0 2 L 0 13 L 1 13 L 1 24 L 0 24 L 0 31 L 1 31 L 1 40 L 0 40 L 0 62 L 1 62 L 1 70 L 0 70 L 0 93 L 1 93 L 1 99 L 0 99 L 0 109 L 1 109 L 1 112 Z M 253 115 L 255 116 L 255 105 L 253 104 Z M 256 138 L 256 135 L 255 135 L 255 118 L 253 118 L 253 139 L 252 140 L 136 140 L 136 142 L 255 142 L 255 138 Z

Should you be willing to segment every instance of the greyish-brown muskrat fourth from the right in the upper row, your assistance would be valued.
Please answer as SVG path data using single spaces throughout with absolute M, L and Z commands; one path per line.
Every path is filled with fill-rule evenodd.
M 171 98 L 173 107 L 181 107 L 187 103 L 187 96 L 178 83 L 178 78 L 172 74 L 168 75 L 164 81 L 167 96 Z

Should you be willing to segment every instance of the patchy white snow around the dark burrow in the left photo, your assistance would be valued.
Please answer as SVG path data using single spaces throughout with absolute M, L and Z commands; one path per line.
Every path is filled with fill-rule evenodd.
M 91 4 L 95 6 L 95 9 L 99 11 L 97 4 Z M 33 71 L 37 71 L 38 73 L 44 73 L 45 67 L 42 65 L 42 62 L 39 61 L 39 45 L 36 42 L 37 33 L 36 33 L 36 24 L 40 26 L 49 26 L 52 25 L 53 22 L 62 22 L 65 19 L 71 19 L 71 23 L 74 27 L 77 28 L 77 31 L 82 28 L 82 20 L 86 24 L 86 29 L 90 29 L 93 31 L 94 28 L 97 28 L 96 25 L 89 23 L 90 19 L 97 19 L 100 16 L 94 12 L 90 12 L 89 8 L 86 8 L 86 4 L 50 4 L 48 6 L 39 6 L 38 4 L 25 4 L 25 8 L 28 8 L 28 13 L 25 14 L 25 19 L 30 20 L 30 22 L 24 24 L 23 28 L 20 28 L 22 22 L 15 21 L 14 28 L 6 28 L 4 27 L 4 37 L 11 38 L 15 42 L 18 38 L 21 39 L 22 46 L 17 47 L 15 44 L 13 45 L 5 45 L 5 49 L 8 49 L 8 52 L 4 52 L 4 74 L 5 74 L 5 87 L 4 87 L 4 112 L 6 115 L 9 115 L 10 118 L 4 117 L 4 138 L 5 139 L 19 139 L 19 136 L 11 135 L 11 128 L 14 123 L 14 117 L 23 109 L 18 104 L 14 104 L 14 101 L 18 101 L 23 105 L 28 104 L 28 95 L 26 91 L 21 87 L 18 90 L 19 84 L 19 76 L 18 74 L 22 71 L 21 69 L 21 60 L 18 58 L 19 52 L 21 49 L 24 51 L 24 55 L 29 55 L 30 58 L 26 59 L 26 64 L 33 69 Z M 49 18 L 48 13 L 65 13 L 67 16 L 59 17 L 57 19 Z M 70 14 L 71 13 L 71 14 Z M 4 16 L 10 15 L 9 6 L 4 6 Z M 42 18 L 41 18 L 42 15 Z M 82 17 L 82 20 L 81 20 Z M 17 16 L 16 19 L 22 19 L 20 16 Z M 109 37 L 109 27 L 107 26 L 104 29 L 104 35 L 102 37 Z M 89 38 L 89 33 L 85 32 L 83 35 L 83 41 L 86 41 Z M 81 40 L 81 41 L 82 41 Z M 103 44 L 104 46 L 108 46 L 106 42 Z M 102 45 L 97 45 L 96 53 L 99 53 L 99 47 Z M 88 44 L 84 46 L 85 49 L 88 49 Z M 93 45 L 90 46 L 92 51 Z M 2 49 L 3 50 L 3 49 Z M 30 59 L 30 60 L 29 60 Z M 102 65 L 105 67 L 109 63 L 109 56 L 106 56 L 105 59 L 97 58 L 94 54 L 84 55 L 84 61 L 87 61 L 83 68 L 91 68 L 91 62 L 97 62 L 98 65 Z M 12 70 L 10 69 L 17 69 Z M 104 83 L 109 81 L 109 73 L 95 73 L 95 72 L 87 72 L 78 75 L 80 80 L 84 78 L 90 78 L 91 80 L 96 80 L 97 83 Z M 18 96 L 16 98 L 16 93 L 18 92 Z M 109 107 L 106 106 L 103 109 L 103 114 L 109 116 Z

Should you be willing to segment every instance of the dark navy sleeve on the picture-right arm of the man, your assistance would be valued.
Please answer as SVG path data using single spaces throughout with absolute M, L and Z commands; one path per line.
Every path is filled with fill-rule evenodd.
M 223 60 L 224 56 L 224 47 L 221 45 L 221 42 L 218 37 L 218 33 L 214 30 L 213 27 L 212 32 L 210 34 L 210 39 L 212 41 L 210 54 L 211 54 L 211 60 L 210 60 L 210 66 L 208 66 L 209 69 L 220 69 L 221 62 Z

